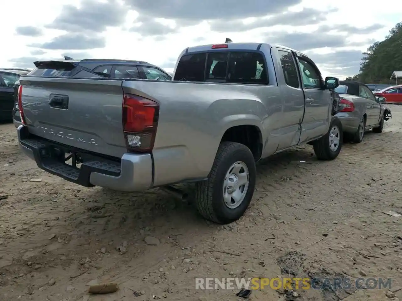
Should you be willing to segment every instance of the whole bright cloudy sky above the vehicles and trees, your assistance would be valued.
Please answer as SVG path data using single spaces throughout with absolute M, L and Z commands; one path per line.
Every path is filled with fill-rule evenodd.
M 189 46 L 275 43 L 308 54 L 324 76 L 359 71 L 361 51 L 400 21 L 390 0 L 18 0 L 2 2 L 0 67 L 33 61 L 148 61 L 171 72 Z M 16 12 L 18 12 L 16 14 Z M 399 15 L 399 16 L 398 16 Z

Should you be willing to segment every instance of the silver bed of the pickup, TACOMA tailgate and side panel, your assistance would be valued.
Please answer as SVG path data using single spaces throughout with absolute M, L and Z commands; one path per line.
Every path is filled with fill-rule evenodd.
M 259 128 L 262 141 L 272 137 L 264 151 L 274 153 L 279 137 L 289 144 L 295 140 L 294 132 L 303 114 L 302 108 L 297 108 L 291 118 L 294 124 L 278 130 L 283 123 L 283 103 L 276 82 L 245 90 L 242 85 L 143 79 L 25 76 L 20 81 L 30 134 L 116 159 L 128 152 L 122 125 L 123 95 L 157 102 L 159 120 L 152 150 L 154 185 L 207 177 L 223 134 L 233 126 Z M 68 96 L 68 109 L 52 108 L 52 95 Z M 269 109 L 261 101 L 267 95 Z

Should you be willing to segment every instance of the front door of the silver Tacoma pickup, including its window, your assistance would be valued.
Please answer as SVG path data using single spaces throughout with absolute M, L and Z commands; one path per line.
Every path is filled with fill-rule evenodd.
M 301 123 L 300 142 L 308 142 L 326 133 L 331 122 L 331 95 L 323 89 L 321 73 L 307 58 L 297 56 L 304 91 L 305 110 Z

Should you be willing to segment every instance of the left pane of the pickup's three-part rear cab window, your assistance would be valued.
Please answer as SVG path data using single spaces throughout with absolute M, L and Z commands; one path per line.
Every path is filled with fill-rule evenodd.
M 206 53 L 183 55 L 174 73 L 175 81 L 204 81 Z

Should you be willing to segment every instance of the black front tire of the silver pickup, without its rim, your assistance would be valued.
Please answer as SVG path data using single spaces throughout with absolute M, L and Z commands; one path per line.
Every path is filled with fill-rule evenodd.
M 332 129 L 337 128 L 336 136 L 339 139 L 337 147 L 335 150 L 331 149 L 330 146 L 330 135 L 333 133 Z M 318 160 L 334 160 L 338 157 L 343 144 L 343 129 L 342 123 L 336 117 L 333 117 L 330 123 L 328 132 L 322 136 L 320 139 L 316 140 L 313 144 L 314 153 Z

